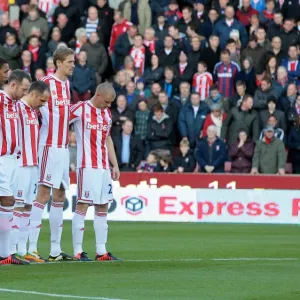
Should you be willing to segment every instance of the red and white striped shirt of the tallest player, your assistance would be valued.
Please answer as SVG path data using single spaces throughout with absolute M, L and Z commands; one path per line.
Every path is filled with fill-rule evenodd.
M 41 79 L 50 88 L 48 103 L 40 108 L 40 146 L 67 148 L 69 144 L 70 82 L 54 75 Z

